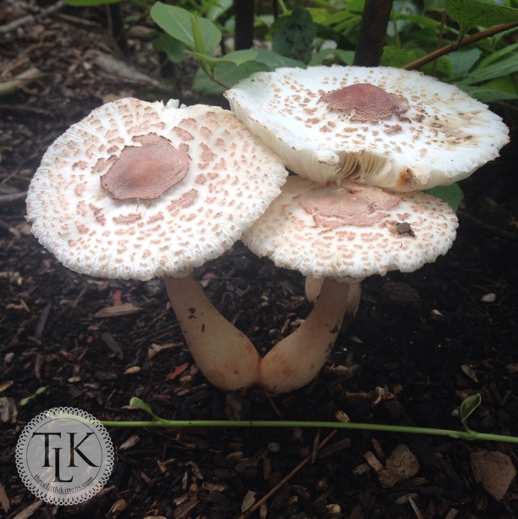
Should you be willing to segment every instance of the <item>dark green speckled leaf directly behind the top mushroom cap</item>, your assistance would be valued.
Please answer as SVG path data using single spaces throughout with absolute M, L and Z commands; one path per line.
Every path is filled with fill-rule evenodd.
M 307 63 L 316 35 L 317 29 L 309 11 L 297 7 L 275 33 L 272 50 L 281 56 Z

